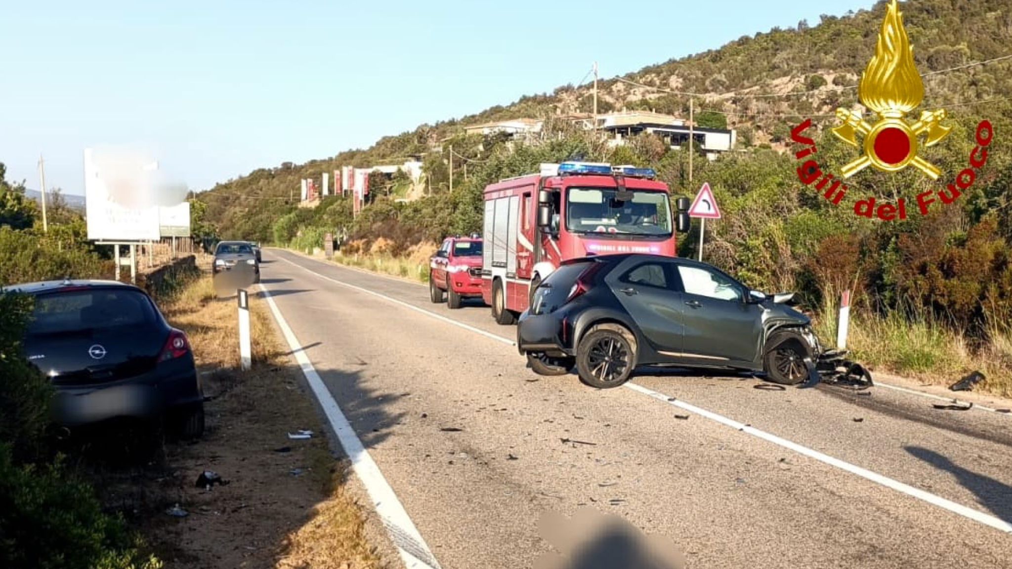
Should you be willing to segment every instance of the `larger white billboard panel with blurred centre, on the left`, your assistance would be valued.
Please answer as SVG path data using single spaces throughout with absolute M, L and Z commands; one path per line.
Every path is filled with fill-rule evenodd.
M 155 241 L 159 235 L 158 206 L 145 199 L 149 168 L 100 165 L 92 149 L 84 151 L 84 194 L 88 239 L 92 241 Z M 133 199 L 131 199 L 133 197 Z

